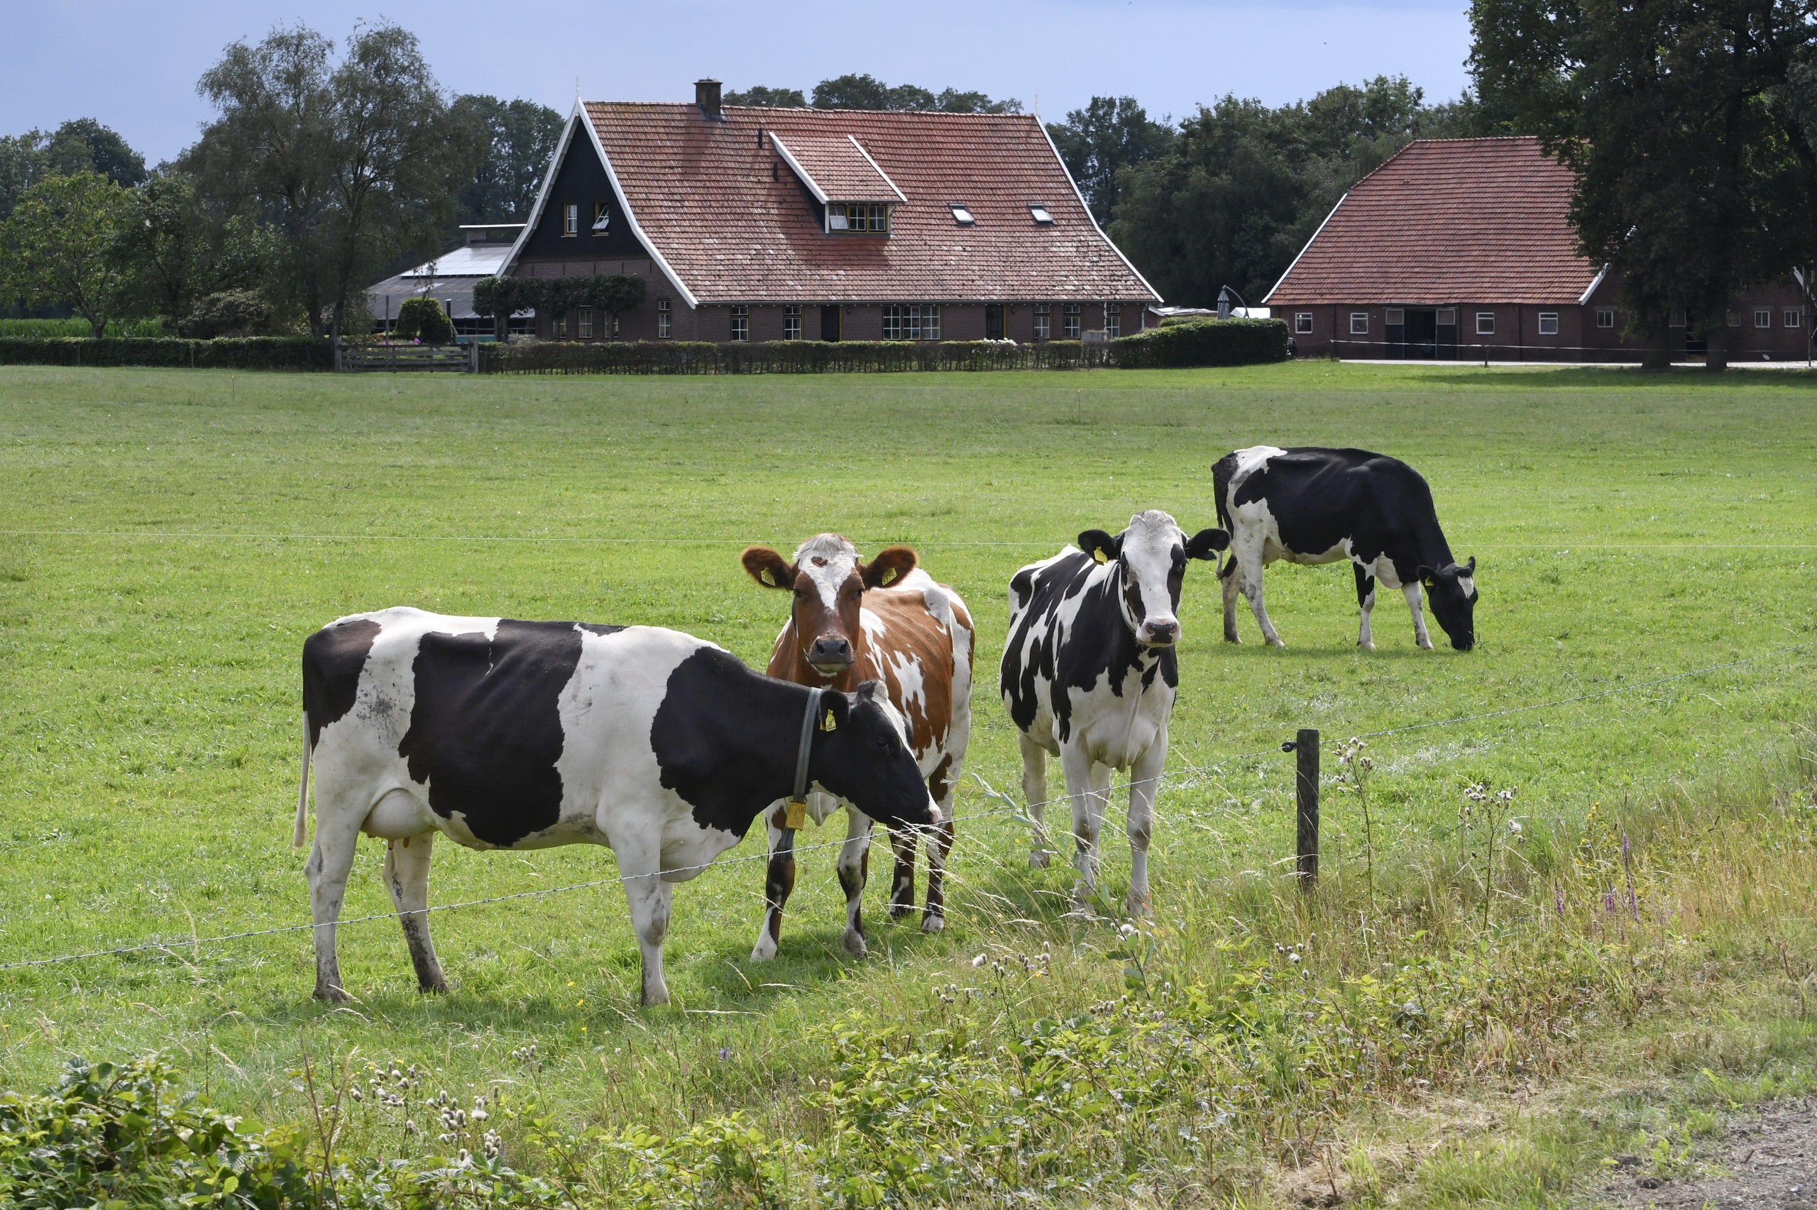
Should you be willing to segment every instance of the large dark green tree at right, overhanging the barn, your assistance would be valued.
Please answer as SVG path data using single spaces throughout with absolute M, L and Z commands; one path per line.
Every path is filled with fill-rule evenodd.
M 1733 294 L 1817 258 L 1817 2 L 1474 0 L 1472 27 L 1481 94 L 1575 174 L 1579 247 L 1650 360 L 1683 311 L 1724 367 Z

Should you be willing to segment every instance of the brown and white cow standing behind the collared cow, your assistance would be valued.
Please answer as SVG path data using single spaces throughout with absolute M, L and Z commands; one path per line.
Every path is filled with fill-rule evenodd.
M 885 547 L 869 563 L 839 534 L 809 538 L 783 560 L 769 547 L 749 547 L 741 558 L 750 578 L 767 589 L 794 594 L 789 623 L 776 636 L 769 674 L 798 685 L 849 692 L 869 679 L 881 679 L 889 698 L 908 723 L 908 750 L 939 805 L 939 828 L 927 841 L 927 910 L 923 932 L 945 923 L 941 876 L 952 848 L 952 787 L 972 738 L 972 616 L 959 594 L 934 583 L 916 565 L 908 547 Z M 865 954 L 859 896 L 865 890 L 870 854 L 870 818 L 829 794 L 809 794 L 807 812 L 818 825 L 836 807 L 845 807 L 847 832 L 839 848 L 839 887 L 845 890 L 845 950 Z M 752 961 L 776 956 L 783 928 L 783 905 L 794 888 L 794 854 L 778 852 L 783 803 L 769 812 L 769 876 L 765 879 L 763 930 L 750 950 Z M 892 832 L 896 883 L 890 916 L 914 910 L 914 836 Z

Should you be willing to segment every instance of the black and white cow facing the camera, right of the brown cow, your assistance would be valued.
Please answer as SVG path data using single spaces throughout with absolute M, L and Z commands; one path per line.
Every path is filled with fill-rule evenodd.
M 1148 836 L 1167 765 L 1167 723 L 1179 687 L 1179 587 L 1187 560 L 1228 545 L 1221 529 L 1192 538 L 1167 512 L 1130 518 L 1112 538 L 1079 534 L 1050 560 L 1010 580 L 1003 647 L 1003 705 L 1021 732 L 1023 796 L 1036 819 L 1028 863 L 1048 863 L 1047 758 L 1057 756 L 1072 803 L 1079 903 L 1097 888 L 1097 830 L 1112 770 L 1130 774 L 1130 912 L 1148 907 Z

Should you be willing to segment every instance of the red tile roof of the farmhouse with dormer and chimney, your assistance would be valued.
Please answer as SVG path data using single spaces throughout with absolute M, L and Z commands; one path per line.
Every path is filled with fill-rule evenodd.
M 690 104 L 585 111 L 643 236 L 700 302 L 1159 302 L 1092 223 L 1032 114 L 727 105 L 710 122 Z M 908 198 L 890 234 L 825 234 L 794 173 L 760 140 L 769 131 L 805 153 L 829 196 L 876 200 L 838 196 L 849 180 L 876 183 L 838 151 L 854 136 Z M 954 222 L 954 203 L 978 222 Z M 1036 223 L 1030 203 L 1048 207 L 1052 225 Z

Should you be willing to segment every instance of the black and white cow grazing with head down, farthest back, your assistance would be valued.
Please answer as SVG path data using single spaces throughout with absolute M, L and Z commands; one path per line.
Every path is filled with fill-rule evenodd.
M 1212 467 L 1217 520 L 1230 531 L 1225 581 L 1225 640 L 1237 640 L 1237 594 L 1248 598 L 1270 647 L 1283 647 L 1261 600 L 1261 569 L 1288 563 L 1348 560 L 1357 578 L 1363 627 L 1357 645 L 1375 650 L 1368 614 L 1375 581 L 1406 594 L 1414 638 L 1432 650 L 1421 587 L 1432 598 L 1432 616 L 1452 647 L 1475 645 L 1475 558 L 1452 560 L 1439 529 L 1432 489 L 1397 458 L 1363 449 L 1277 449 L 1252 445 L 1225 454 Z

